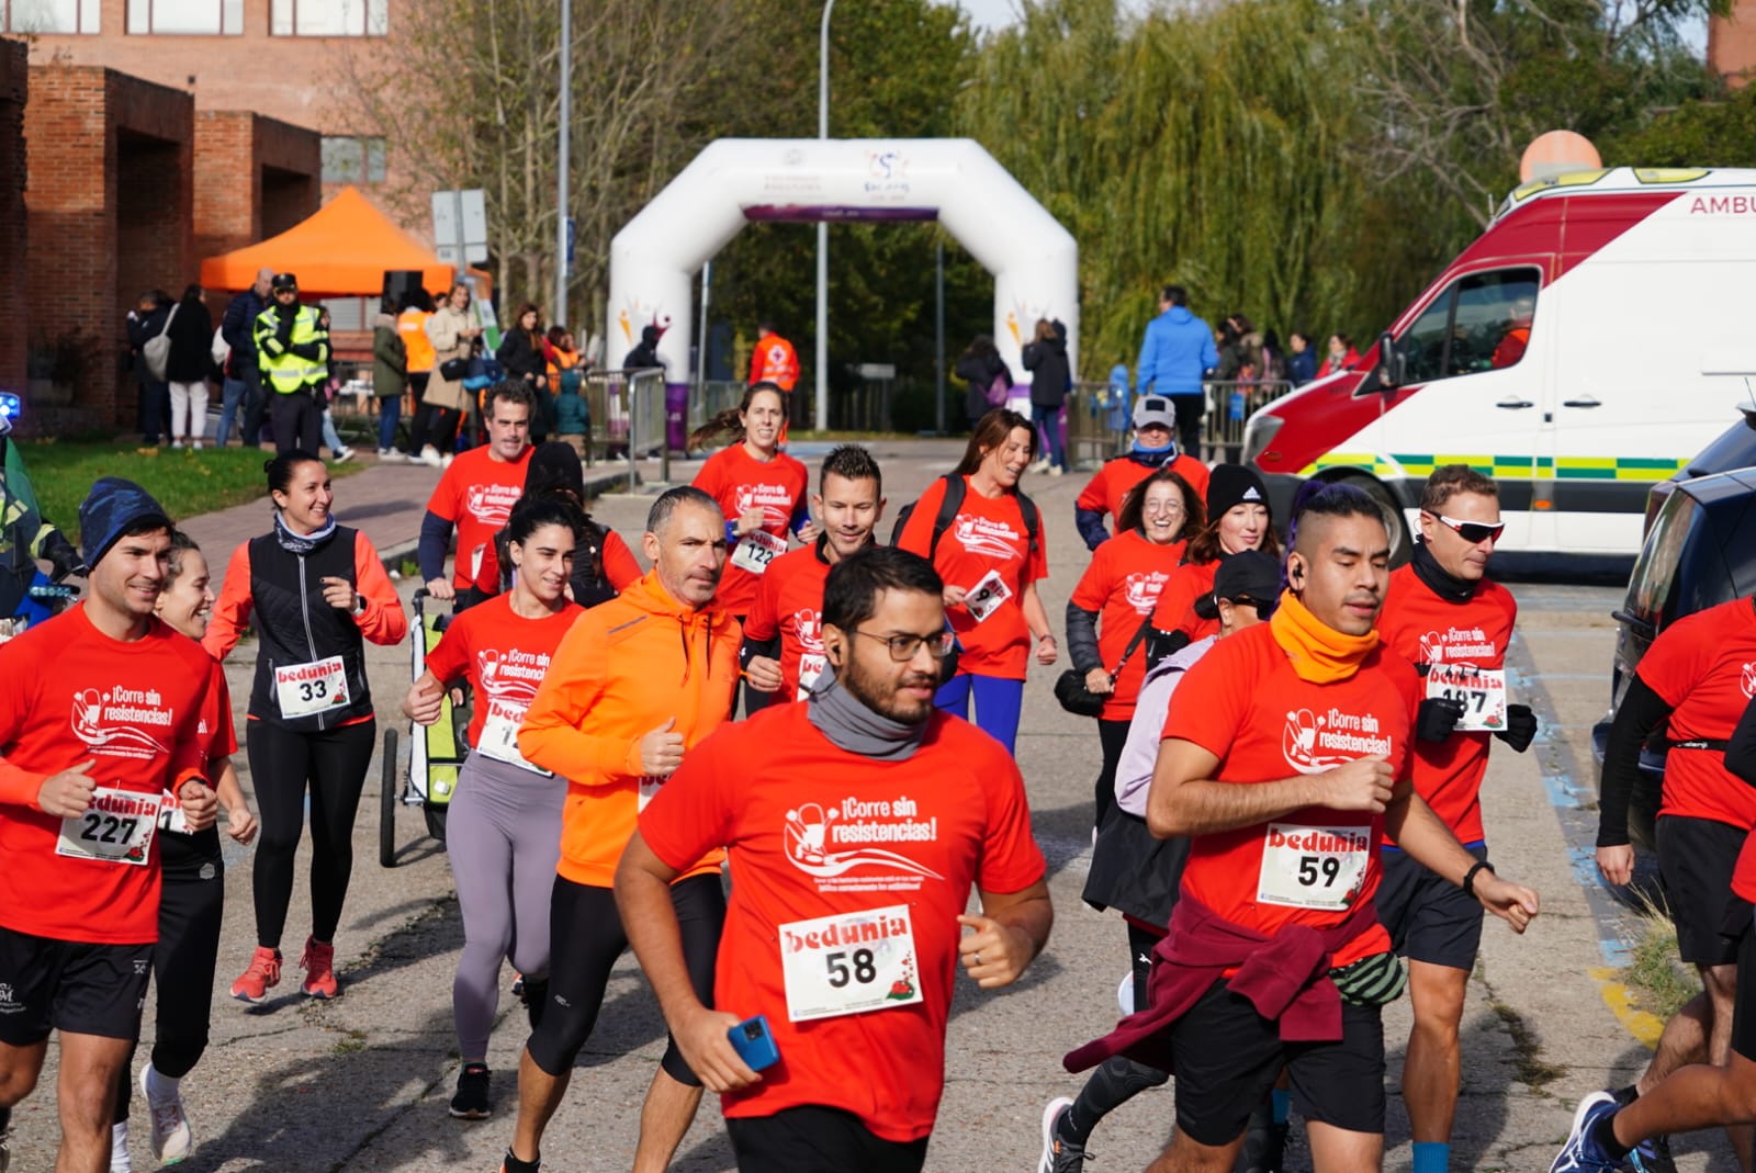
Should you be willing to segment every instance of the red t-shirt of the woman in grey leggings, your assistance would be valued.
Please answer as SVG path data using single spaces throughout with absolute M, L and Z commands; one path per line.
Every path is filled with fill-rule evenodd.
M 469 718 L 469 745 L 502 762 L 525 766 L 518 753 L 518 725 L 548 674 L 550 658 L 572 622 L 585 613 L 576 602 L 541 620 L 513 611 L 511 595 L 495 595 L 469 608 L 446 629 L 427 653 L 427 671 L 441 685 L 469 680 L 476 688 L 476 711 Z M 481 732 L 493 723 L 495 739 L 483 745 Z

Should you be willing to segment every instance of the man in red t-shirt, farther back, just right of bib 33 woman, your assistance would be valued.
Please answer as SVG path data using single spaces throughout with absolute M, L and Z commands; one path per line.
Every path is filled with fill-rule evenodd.
M 530 467 L 530 414 L 536 399 L 523 383 L 488 390 L 488 443 L 451 462 L 427 500 L 416 560 L 434 599 L 455 599 L 465 611 L 500 594 L 500 558 L 493 537 L 525 493 Z M 444 555 L 457 527 L 457 562 L 444 576 Z

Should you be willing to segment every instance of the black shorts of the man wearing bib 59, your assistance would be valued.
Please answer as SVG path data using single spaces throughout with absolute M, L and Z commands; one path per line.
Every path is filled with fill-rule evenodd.
M 1278 1024 L 1224 980 L 1171 1027 L 1177 1127 L 1203 1145 L 1229 1145 L 1287 1069 L 1306 1120 L 1384 1133 L 1384 1022 L 1378 1006 L 1342 1003 L 1342 1038 L 1287 1043 Z

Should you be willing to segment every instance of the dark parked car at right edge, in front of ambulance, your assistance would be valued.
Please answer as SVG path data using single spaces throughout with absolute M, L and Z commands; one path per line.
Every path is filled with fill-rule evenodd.
M 1745 434 L 1756 437 L 1756 432 Z M 1730 434 L 1716 441 L 1716 448 L 1726 439 Z M 1628 595 L 1612 613 L 1619 630 L 1610 669 L 1610 711 L 1591 730 L 1591 748 L 1600 764 L 1616 706 L 1658 634 L 1684 615 L 1752 594 L 1756 467 L 1668 483 L 1628 578 Z M 1640 755 L 1640 766 L 1644 785 L 1635 788 L 1628 831 L 1635 843 L 1651 848 L 1665 755 L 1649 746 Z

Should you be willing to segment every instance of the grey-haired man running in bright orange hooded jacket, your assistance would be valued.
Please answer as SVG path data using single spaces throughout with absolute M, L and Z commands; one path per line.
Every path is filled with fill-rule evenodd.
M 527 980 L 525 987 L 532 1031 L 518 1066 L 518 1124 L 502 1173 L 539 1168 L 543 1129 L 567 1092 L 609 971 L 629 945 L 613 883 L 636 815 L 683 753 L 732 709 L 738 620 L 708 606 L 725 571 L 720 506 L 699 488 L 673 488 L 646 515 L 641 544 L 653 569 L 569 629 L 518 730 L 518 752 L 565 781 L 567 802 L 550 976 L 546 985 Z M 708 1004 L 725 920 L 723 859 L 722 850 L 708 852 L 671 885 L 690 975 Z M 669 1166 L 699 1103 L 701 1080 L 673 1043 L 641 1110 L 636 1173 Z

